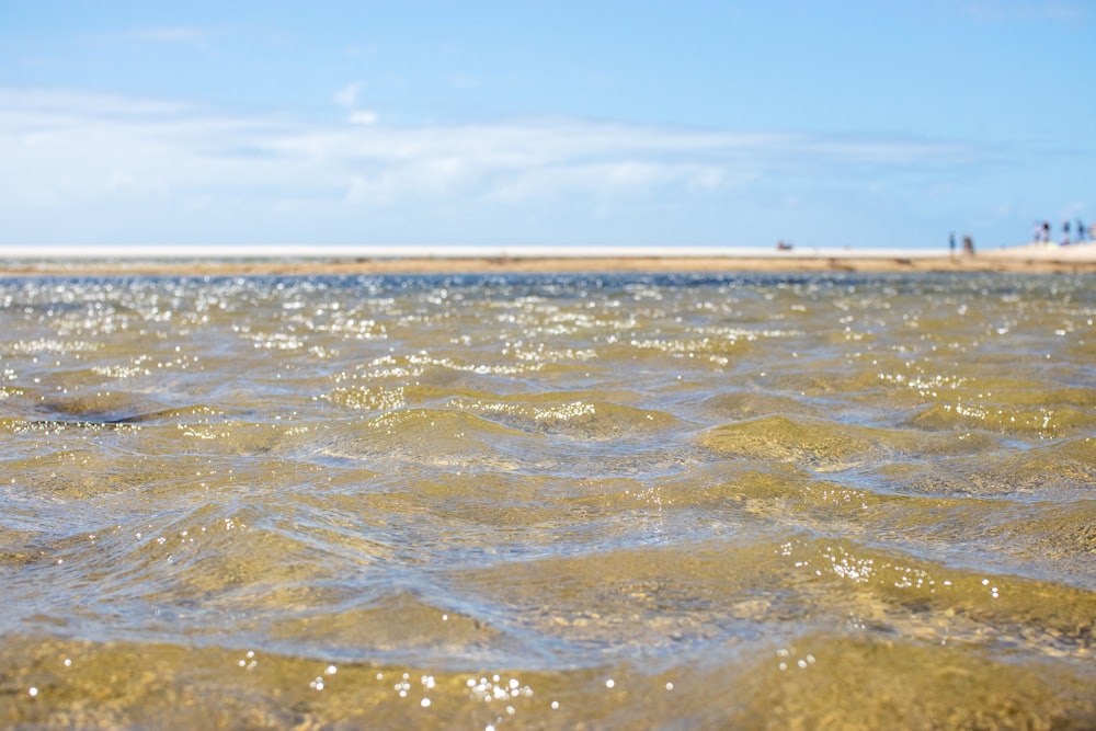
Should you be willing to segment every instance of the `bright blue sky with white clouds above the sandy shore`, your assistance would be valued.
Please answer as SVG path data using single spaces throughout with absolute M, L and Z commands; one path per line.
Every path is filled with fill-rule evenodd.
M 0 244 L 996 248 L 1078 218 L 1096 0 L 0 2 Z

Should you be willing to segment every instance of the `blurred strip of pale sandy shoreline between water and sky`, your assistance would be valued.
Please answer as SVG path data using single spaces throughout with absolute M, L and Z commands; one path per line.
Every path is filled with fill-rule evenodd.
M 122 252 L 125 253 L 122 253 Z M 450 253 L 452 251 L 452 253 Z M 1001 272 L 1096 273 L 1096 243 L 1070 247 L 1041 243 L 971 254 L 923 251 L 680 249 L 66 249 L 0 248 L 0 276 L 80 275 L 357 275 L 504 274 L 602 272 Z M 262 252 L 262 253 L 259 253 Z M 406 253 L 400 253 L 406 252 Z

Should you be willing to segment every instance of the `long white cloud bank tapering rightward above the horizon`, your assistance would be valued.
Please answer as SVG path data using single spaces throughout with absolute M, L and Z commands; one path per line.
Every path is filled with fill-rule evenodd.
M 335 94 L 353 106 L 357 84 Z M 332 207 L 540 205 L 591 207 L 646 196 L 732 195 L 824 170 L 861 185 L 865 164 L 932 178 L 966 164 L 961 146 L 911 139 L 832 139 L 580 119 L 396 127 L 351 111 L 321 125 L 209 113 L 184 104 L 85 92 L 0 88 L 0 215 L 33 220 L 78 206 L 155 204 L 229 216 L 320 216 Z M 419 212 L 419 213 L 415 213 Z M 258 215 L 258 214 L 256 214 Z M 2 238 L 2 235 L 0 235 Z

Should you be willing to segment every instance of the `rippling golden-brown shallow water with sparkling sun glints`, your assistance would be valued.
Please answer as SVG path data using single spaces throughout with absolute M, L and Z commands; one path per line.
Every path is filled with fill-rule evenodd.
M 1096 277 L 0 279 L 0 726 L 1096 727 Z

